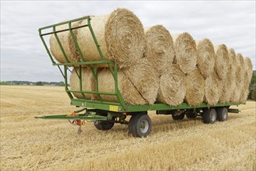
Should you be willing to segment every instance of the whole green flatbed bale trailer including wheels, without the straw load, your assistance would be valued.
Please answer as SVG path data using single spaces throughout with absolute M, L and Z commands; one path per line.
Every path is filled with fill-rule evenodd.
M 81 21 L 83 19 L 87 20 L 87 24 L 82 26 L 72 26 L 72 23 Z M 200 103 L 195 106 L 188 105 L 187 103 L 181 103 L 178 106 L 170 106 L 165 103 L 154 103 L 153 105 L 128 105 L 124 102 L 121 96 L 121 92 L 117 85 L 117 63 L 115 61 L 108 61 L 104 58 L 101 50 L 100 44 L 98 44 L 96 35 L 93 33 L 93 27 L 90 24 L 91 18 L 85 16 L 79 19 L 72 19 L 66 22 L 57 23 L 51 26 L 44 26 L 39 29 L 39 36 L 42 40 L 44 47 L 47 51 L 49 58 L 51 59 L 52 65 L 59 68 L 61 75 L 65 80 L 65 92 L 67 92 L 68 97 L 71 99 L 71 105 L 82 107 L 80 110 L 76 110 L 68 115 L 51 115 L 36 117 L 41 119 L 50 120 L 69 120 L 71 124 L 79 126 L 79 133 L 81 132 L 81 126 L 85 120 L 93 121 L 93 124 L 98 130 L 107 131 L 110 130 L 114 124 L 128 124 L 128 132 L 134 137 L 146 137 L 149 135 L 152 122 L 148 115 L 149 110 L 156 111 L 156 114 L 171 115 L 174 120 L 183 120 L 184 116 L 188 118 L 202 117 L 205 124 L 214 124 L 216 120 L 225 121 L 228 119 L 228 113 L 239 113 L 237 109 L 230 109 L 230 106 L 238 106 L 240 103 L 216 103 L 216 105 L 211 106 L 207 103 Z M 67 25 L 68 29 L 56 30 L 57 26 Z M 76 40 L 73 30 L 87 27 L 93 37 L 97 51 L 100 54 L 100 61 L 86 61 L 83 57 L 82 51 L 80 50 L 79 44 Z M 68 61 L 65 54 L 64 48 L 62 47 L 61 41 L 58 38 L 57 33 L 70 32 L 72 40 L 75 43 L 75 47 L 79 52 L 80 62 Z M 54 34 L 58 42 L 58 46 L 65 58 L 65 63 L 58 63 L 54 61 L 52 54 L 47 47 L 47 43 L 44 40 L 45 36 Z M 100 64 L 105 64 L 108 66 L 113 78 L 114 78 L 114 92 L 100 92 L 98 90 L 98 73 L 97 66 Z M 93 78 L 95 79 L 95 89 L 96 91 L 85 91 L 82 89 L 82 66 L 87 65 L 87 67 L 93 73 Z M 79 90 L 68 89 L 68 71 L 70 72 L 70 67 L 77 67 L 78 71 L 75 70 L 75 74 L 79 78 Z M 82 99 L 76 99 L 72 92 L 79 92 L 82 94 Z M 86 99 L 85 94 L 94 94 L 98 98 L 96 99 Z M 101 96 L 116 96 L 117 102 L 103 101 Z M 129 120 L 126 120 L 130 116 Z

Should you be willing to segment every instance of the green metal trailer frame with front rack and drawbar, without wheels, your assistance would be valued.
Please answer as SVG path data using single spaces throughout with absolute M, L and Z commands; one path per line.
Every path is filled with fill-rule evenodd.
M 72 23 L 79 22 L 81 20 L 87 21 L 86 24 L 82 26 L 73 26 Z M 218 107 L 226 107 L 228 109 L 228 112 L 233 112 L 233 113 L 238 113 L 238 110 L 231 110 L 229 109 L 230 106 L 236 105 L 238 106 L 240 103 L 216 103 L 216 105 L 211 106 L 207 103 L 200 103 L 195 106 L 188 105 L 187 103 L 181 103 L 178 106 L 170 106 L 165 103 L 154 103 L 153 105 L 128 105 L 124 102 L 123 97 L 121 96 L 121 92 L 118 89 L 118 83 L 117 83 L 117 63 L 115 61 L 109 61 L 106 60 L 106 58 L 103 56 L 103 53 L 100 49 L 100 44 L 98 44 L 98 41 L 96 39 L 96 35 L 93 32 L 93 27 L 91 26 L 90 23 L 91 18 L 89 16 L 84 16 L 79 19 L 72 19 L 66 22 L 62 23 L 57 23 L 51 26 L 44 26 L 39 29 L 39 36 L 40 39 L 42 40 L 44 47 L 47 51 L 47 54 L 49 58 L 51 59 L 52 65 L 56 65 L 60 72 L 61 75 L 63 76 L 65 80 L 65 92 L 67 92 L 68 97 L 71 99 L 71 104 L 74 106 L 79 106 L 79 107 L 84 107 L 84 110 L 86 110 L 85 113 L 80 113 L 83 110 L 78 110 L 76 111 L 79 113 L 75 117 L 70 117 L 67 115 L 51 115 L 51 116 L 43 116 L 43 117 L 37 117 L 37 118 L 42 118 L 42 119 L 63 119 L 63 120 L 111 120 L 113 117 L 119 117 L 122 118 L 120 119 L 119 123 L 121 124 L 128 124 L 127 121 L 125 121 L 124 115 L 133 115 L 134 113 L 145 113 L 149 110 L 156 110 L 156 113 L 167 113 L 167 112 L 161 112 L 161 111 L 180 111 L 180 110 L 202 110 L 202 109 L 209 109 L 209 108 L 218 108 Z M 57 30 L 58 26 L 61 25 L 67 25 L 68 29 L 64 30 Z M 75 33 L 73 30 L 80 29 L 82 27 L 88 27 L 95 46 L 97 48 L 97 51 L 99 51 L 100 54 L 100 61 L 86 61 L 86 58 L 83 56 L 82 51 L 79 47 L 79 43 L 76 40 Z M 69 32 L 72 40 L 74 41 L 76 50 L 79 52 L 79 57 L 81 58 L 80 62 L 71 62 L 68 61 L 68 57 L 65 53 L 65 50 L 61 44 L 61 40 L 58 37 L 58 33 L 61 32 Z M 54 37 L 56 38 L 58 45 L 61 49 L 61 52 L 65 58 L 65 63 L 58 63 L 54 61 L 54 58 L 51 54 L 51 51 L 47 47 L 47 43 L 44 40 L 45 36 L 49 36 L 54 34 Z M 100 92 L 98 89 L 98 65 L 101 64 L 107 64 L 108 69 L 110 69 L 111 74 L 113 75 L 114 78 L 114 92 Z M 82 89 L 82 65 L 88 65 L 90 68 L 91 72 L 93 73 L 93 77 L 95 79 L 95 89 L 96 91 L 85 91 Z M 79 90 L 71 90 L 68 89 L 68 70 L 69 67 L 77 67 L 78 71 L 75 70 L 75 74 L 79 78 Z M 70 70 L 69 70 L 70 71 Z M 74 96 L 72 96 L 72 92 L 79 92 L 82 94 L 83 98 L 82 99 L 76 99 Z M 86 94 L 94 94 L 98 98 L 97 100 L 94 99 L 86 99 Z M 101 98 L 102 95 L 105 96 L 116 96 L 117 97 L 117 102 L 108 102 L 108 101 L 103 101 Z M 160 111 L 160 112 L 159 112 Z M 100 113 L 100 114 L 99 114 Z M 105 113 L 105 114 L 102 114 Z M 171 112 L 170 112 L 171 113 Z

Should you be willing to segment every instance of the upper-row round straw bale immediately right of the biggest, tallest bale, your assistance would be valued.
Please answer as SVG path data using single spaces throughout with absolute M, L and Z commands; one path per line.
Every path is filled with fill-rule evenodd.
M 145 57 L 156 68 L 160 75 L 173 64 L 175 51 L 174 41 L 169 31 L 160 25 L 145 30 L 146 53 Z

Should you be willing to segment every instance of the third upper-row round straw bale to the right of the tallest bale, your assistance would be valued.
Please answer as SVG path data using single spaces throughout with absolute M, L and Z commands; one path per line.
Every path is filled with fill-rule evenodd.
M 196 41 L 198 51 L 198 68 L 206 78 L 212 74 L 215 66 L 215 52 L 211 40 L 203 39 Z

